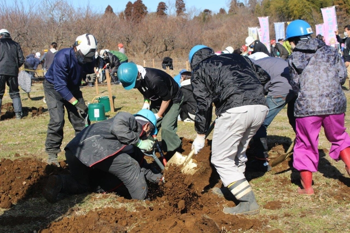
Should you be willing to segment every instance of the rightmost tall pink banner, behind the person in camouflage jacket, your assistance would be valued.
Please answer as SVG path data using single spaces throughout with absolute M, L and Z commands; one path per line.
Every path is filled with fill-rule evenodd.
M 321 8 L 324 26 L 324 39 L 325 43 L 328 45 L 337 44 L 335 32 L 338 29 L 336 23 L 335 6 Z

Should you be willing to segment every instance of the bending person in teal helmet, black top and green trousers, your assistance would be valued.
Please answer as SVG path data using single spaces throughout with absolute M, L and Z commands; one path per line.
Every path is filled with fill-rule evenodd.
M 175 151 L 181 145 L 176 134 L 177 116 L 183 94 L 174 79 L 160 69 L 142 67 L 133 62 L 122 63 L 118 78 L 126 90 L 137 88 L 143 95 L 143 109 L 150 109 L 161 126 L 161 145 L 164 151 Z

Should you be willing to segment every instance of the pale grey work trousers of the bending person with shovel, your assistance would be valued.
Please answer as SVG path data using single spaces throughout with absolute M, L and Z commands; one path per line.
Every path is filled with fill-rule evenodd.
M 245 178 L 245 151 L 267 112 L 264 105 L 245 105 L 230 108 L 216 118 L 211 163 L 224 186 Z

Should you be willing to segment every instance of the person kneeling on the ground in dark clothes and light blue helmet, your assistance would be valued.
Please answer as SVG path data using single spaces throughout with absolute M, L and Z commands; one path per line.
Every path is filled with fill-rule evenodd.
M 147 183 L 164 182 L 162 174 L 143 159 L 157 133 L 154 113 L 142 109 L 132 115 L 118 112 L 114 117 L 84 128 L 66 146 L 70 174 L 49 176 L 43 196 L 49 202 L 58 193 L 109 192 L 122 183 L 133 199 L 147 197 Z M 142 151 L 141 151 L 142 150 Z

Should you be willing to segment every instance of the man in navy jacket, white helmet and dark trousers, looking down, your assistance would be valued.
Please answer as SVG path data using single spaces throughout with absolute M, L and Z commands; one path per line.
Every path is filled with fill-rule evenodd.
M 75 135 L 85 127 L 84 120 L 78 115 L 78 111 L 82 115 L 87 113 L 79 86 L 82 78 L 91 83 L 96 80 L 93 70 L 96 49 L 97 41 L 93 35 L 79 35 L 71 48 L 63 48 L 56 53 L 45 73 L 42 84 L 50 115 L 45 141 L 48 164 L 59 166 L 57 153 L 61 151 L 63 140 L 64 107 Z

